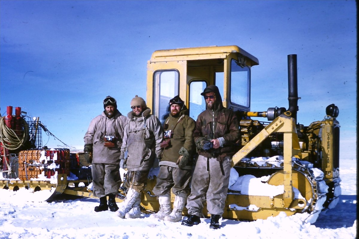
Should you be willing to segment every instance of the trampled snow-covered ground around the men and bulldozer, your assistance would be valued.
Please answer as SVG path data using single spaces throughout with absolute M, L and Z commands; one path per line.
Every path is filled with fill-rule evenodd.
M 342 179 L 339 203 L 322 212 L 316 223 L 305 223 L 308 214 L 280 214 L 266 220 L 222 219 L 221 228 L 209 229 L 210 219 L 192 227 L 149 218 L 120 219 L 114 212 L 94 212 L 97 199 L 41 201 L 46 192 L 14 193 L 0 189 L 0 238 L 356 238 L 356 161 L 340 161 Z M 29 200 L 30 199 L 30 200 Z

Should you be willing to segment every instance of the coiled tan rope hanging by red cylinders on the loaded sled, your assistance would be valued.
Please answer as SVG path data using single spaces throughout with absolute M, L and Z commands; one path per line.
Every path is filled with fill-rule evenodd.
M 23 134 L 19 137 L 14 130 L 10 129 L 4 120 L 5 116 L 0 118 L 0 142 L 4 148 L 9 150 L 16 150 L 20 148 L 29 137 L 29 125 L 23 118 L 20 118 L 24 125 Z

